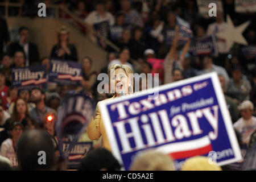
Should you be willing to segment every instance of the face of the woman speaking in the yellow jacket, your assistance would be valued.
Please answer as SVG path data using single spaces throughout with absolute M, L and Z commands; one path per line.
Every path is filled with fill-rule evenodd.
M 115 69 L 115 73 L 112 74 L 112 85 L 115 85 L 115 93 L 127 94 L 129 93 L 129 77 L 126 75 L 122 68 Z

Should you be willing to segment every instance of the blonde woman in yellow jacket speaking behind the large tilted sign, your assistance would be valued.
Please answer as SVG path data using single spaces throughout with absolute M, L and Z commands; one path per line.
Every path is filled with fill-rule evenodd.
M 112 91 L 111 93 L 114 93 L 114 96 L 106 100 L 133 93 L 133 76 L 130 75 L 133 75 L 133 71 L 131 71 L 131 68 L 127 65 L 112 64 L 110 66 L 108 76 L 110 80 L 110 90 Z M 114 88 L 112 88 L 112 85 L 114 85 Z M 111 151 L 108 135 L 106 134 L 100 109 L 98 107 L 100 102 L 98 102 L 96 106 L 95 118 L 92 119 L 87 126 L 87 133 L 91 140 L 97 140 L 102 136 L 103 147 Z

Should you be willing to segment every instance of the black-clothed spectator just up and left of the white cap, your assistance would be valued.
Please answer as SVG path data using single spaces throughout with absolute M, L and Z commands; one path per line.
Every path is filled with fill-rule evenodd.
M 145 44 L 143 42 L 143 29 L 135 27 L 133 30 L 133 38 L 130 42 L 131 59 L 138 60 L 143 59 L 143 53 L 145 51 Z

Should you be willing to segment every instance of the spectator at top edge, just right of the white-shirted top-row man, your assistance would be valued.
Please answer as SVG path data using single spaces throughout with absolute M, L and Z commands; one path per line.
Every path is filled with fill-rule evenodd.
M 131 9 L 130 1 L 121 0 L 121 9 L 121 12 L 125 14 L 125 24 L 143 27 L 141 14 L 139 14 L 136 10 Z

